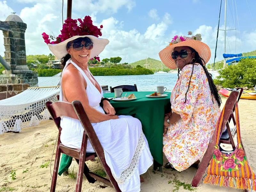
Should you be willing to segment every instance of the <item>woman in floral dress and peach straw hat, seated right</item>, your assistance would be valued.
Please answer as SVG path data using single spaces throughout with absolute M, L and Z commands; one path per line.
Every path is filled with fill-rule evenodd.
M 175 36 L 159 56 L 167 67 L 178 68 L 172 111 L 164 117 L 163 152 L 170 162 L 165 167 L 183 171 L 203 157 L 220 115 L 221 99 L 205 68 L 211 52 L 200 34 Z

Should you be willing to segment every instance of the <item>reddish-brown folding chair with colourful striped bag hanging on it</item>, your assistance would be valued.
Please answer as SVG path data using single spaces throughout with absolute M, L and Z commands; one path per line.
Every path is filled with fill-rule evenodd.
M 226 101 L 226 104 L 225 104 L 225 112 L 223 115 L 223 122 L 221 125 L 221 130 L 223 130 L 225 128 L 225 126 L 229 123 L 228 120 L 229 120 L 231 114 L 233 113 L 233 109 L 236 105 L 236 101 L 239 97 L 239 94 L 240 94 L 239 91 L 232 91 L 230 93 L 230 95 Z M 236 120 L 234 119 L 233 121 L 236 121 Z M 241 144 L 242 144 L 242 147 L 244 148 L 243 143 L 241 143 Z M 209 146 L 208 146 L 208 148 L 204 154 L 204 157 L 196 171 L 196 174 L 191 182 L 192 187 L 197 187 L 200 180 L 202 179 L 204 172 L 212 158 L 212 154 L 215 149 L 214 148 L 215 145 L 216 145 L 216 130 L 214 131 L 214 133 L 212 135 L 212 139 L 209 143 Z

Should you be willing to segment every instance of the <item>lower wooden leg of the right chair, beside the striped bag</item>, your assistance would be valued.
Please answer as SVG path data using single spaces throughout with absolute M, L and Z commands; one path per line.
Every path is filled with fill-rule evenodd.
M 215 135 L 215 132 L 213 133 L 213 135 Z M 199 184 L 200 180 L 202 179 L 203 174 L 212 158 L 212 154 L 213 154 L 214 146 L 215 146 L 215 136 L 213 136 L 213 137 L 214 137 L 214 139 L 209 144 L 209 146 L 204 154 L 204 157 L 196 171 L 196 174 L 191 182 L 192 187 L 198 186 L 198 184 Z

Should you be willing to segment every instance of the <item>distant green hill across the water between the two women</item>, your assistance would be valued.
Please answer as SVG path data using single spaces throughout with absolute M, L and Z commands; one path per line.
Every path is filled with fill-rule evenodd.
M 148 58 L 148 64 L 149 64 L 149 69 L 151 69 L 152 71 L 160 71 L 162 70 L 162 65 L 161 65 L 161 61 L 159 60 L 156 60 L 156 59 L 152 59 L 152 58 Z M 131 65 L 133 68 L 136 67 L 137 65 L 140 65 L 141 67 L 145 67 L 146 64 L 146 59 L 143 59 L 143 60 L 139 60 L 139 61 L 136 61 L 134 63 L 130 63 L 129 65 Z M 147 67 L 148 68 L 148 67 Z M 163 64 L 163 71 L 170 71 L 169 68 L 167 68 L 164 64 Z

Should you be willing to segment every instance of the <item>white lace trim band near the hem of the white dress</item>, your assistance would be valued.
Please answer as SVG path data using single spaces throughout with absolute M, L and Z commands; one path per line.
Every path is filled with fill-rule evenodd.
M 121 172 L 120 177 L 117 178 L 113 174 L 113 177 L 115 178 L 115 180 L 118 184 L 124 184 L 125 182 L 127 182 L 131 178 L 132 174 L 134 173 L 134 171 L 138 167 L 139 158 L 140 158 L 141 152 L 143 151 L 144 147 L 145 147 L 145 140 L 144 140 L 144 137 L 143 137 L 143 132 L 141 131 L 140 139 L 139 139 L 137 148 L 135 150 L 135 153 L 132 157 L 131 164 L 123 172 Z

